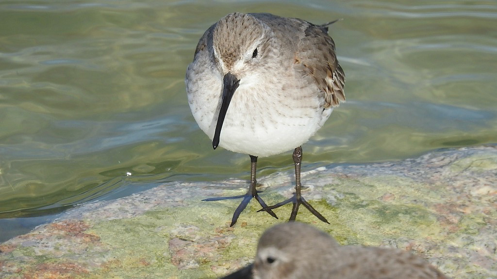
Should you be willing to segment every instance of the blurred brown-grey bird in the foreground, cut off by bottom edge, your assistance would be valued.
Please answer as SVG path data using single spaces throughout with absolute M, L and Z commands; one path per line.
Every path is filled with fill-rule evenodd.
M 302 236 L 305 235 L 305 238 Z M 296 241 L 297 240 L 297 241 Z M 340 246 L 310 225 L 275 225 L 259 239 L 253 264 L 223 279 L 448 279 L 406 251 Z

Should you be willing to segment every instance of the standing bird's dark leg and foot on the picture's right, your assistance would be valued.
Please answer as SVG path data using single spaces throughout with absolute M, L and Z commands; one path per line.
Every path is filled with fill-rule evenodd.
M 314 216 L 318 217 L 318 219 L 325 223 L 329 223 L 328 220 L 321 215 L 318 210 L 314 209 L 301 195 L 300 191 L 302 190 L 302 184 L 300 183 L 300 169 L 302 167 L 302 146 L 299 146 L 293 150 L 293 162 L 295 164 L 295 194 L 293 197 L 274 206 L 262 208 L 259 211 L 272 210 L 292 202 L 293 208 L 292 213 L 290 214 L 290 221 L 295 221 L 295 217 L 297 217 L 297 213 L 299 211 L 299 206 L 302 204 L 306 207 L 306 209 L 309 209 Z

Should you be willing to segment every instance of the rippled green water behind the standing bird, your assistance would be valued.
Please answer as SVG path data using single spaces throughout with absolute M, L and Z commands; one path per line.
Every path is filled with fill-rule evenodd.
M 233 11 L 344 19 L 330 33 L 347 102 L 304 168 L 497 143 L 497 1 L 1 1 L 0 241 L 158 181 L 248 178 L 247 155 L 212 150 L 183 82 Z M 259 176 L 292 167 L 261 158 Z

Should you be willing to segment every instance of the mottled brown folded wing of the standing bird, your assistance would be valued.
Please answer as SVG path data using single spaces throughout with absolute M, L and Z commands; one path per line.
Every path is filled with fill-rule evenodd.
M 306 28 L 295 62 L 301 63 L 304 71 L 316 81 L 324 94 L 324 107 L 336 107 L 345 101 L 345 74 L 336 60 L 335 43 L 326 32 L 327 24 L 303 22 Z

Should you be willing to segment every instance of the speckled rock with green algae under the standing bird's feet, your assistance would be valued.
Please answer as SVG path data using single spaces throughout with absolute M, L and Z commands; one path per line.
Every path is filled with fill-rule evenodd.
M 341 244 L 397 247 L 456 279 L 497 278 L 497 148 L 438 151 L 416 159 L 332 165 L 302 175 L 304 197 L 331 224 L 297 219 Z M 259 179 L 267 204 L 292 194 L 293 173 Z M 262 231 L 285 221 L 251 202 L 229 227 L 247 181 L 167 183 L 87 203 L 0 244 L 0 278 L 216 278 L 248 264 Z M 302 236 L 305 241 L 305 236 Z

